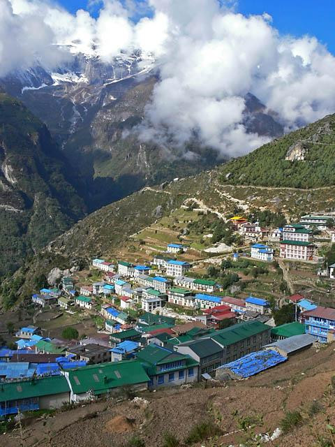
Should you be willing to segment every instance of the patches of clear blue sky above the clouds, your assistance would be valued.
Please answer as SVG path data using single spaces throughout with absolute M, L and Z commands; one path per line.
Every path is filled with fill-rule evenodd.
M 87 9 L 87 0 L 58 1 L 71 13 L 80 8 Z M 281 34 L 315 36 L 335 54 L 334 0 L 239 0 L 237 11 L 244 15 L 267 12 Z

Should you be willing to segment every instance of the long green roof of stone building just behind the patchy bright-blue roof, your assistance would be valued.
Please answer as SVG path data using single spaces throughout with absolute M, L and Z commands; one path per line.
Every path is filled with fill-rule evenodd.
M 217 330 L 215 334 L 211 334 L 211 338 L 223 346 L 228 346 L 269 329 L 268 325 L 260 321 L 246 321 L 246 323 L 238 323 L 230 328 Z

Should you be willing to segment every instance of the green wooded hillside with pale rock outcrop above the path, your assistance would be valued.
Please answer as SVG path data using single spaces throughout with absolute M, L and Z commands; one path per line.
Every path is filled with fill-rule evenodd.
M 221 168 L 223 184 L 315 188 L 335 184 L 335 115 Z

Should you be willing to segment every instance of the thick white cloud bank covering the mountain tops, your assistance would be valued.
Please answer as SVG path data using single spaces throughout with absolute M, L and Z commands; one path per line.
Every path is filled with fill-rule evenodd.
M 54 68 L 74 50 L 106 63 L 140 50 L 160 73 L 141 138 L 183 147 L 196 135 L 232 156 L 265 142 L 241 124 L 248 92 L 291 129 L 334 112 L 335 58 L 316 38 L 280 36 L 269 15 L 244 17 L 217 0 L 142 1 L 150 13 L 134 21 L 136 8 L 105 0 L 94 18 L 0 0 L 0 76 L 36 61 Z

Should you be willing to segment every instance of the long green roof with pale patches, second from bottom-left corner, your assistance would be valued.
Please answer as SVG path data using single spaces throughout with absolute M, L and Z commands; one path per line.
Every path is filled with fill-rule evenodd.
M 93 390 L 96 395 L 107 393 L 119 386 L 135 385 L 149 381 L 149 377 L 140 362 L 124 360 L 121 362 L 101 363 L 78 369 L 68 370 L 73 393 L 81 394 Z

